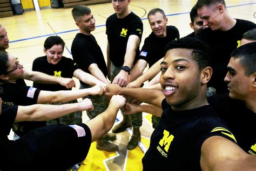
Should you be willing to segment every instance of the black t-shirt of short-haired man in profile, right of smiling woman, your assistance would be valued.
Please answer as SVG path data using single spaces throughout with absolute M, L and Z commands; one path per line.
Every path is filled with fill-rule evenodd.
M 73 60 L 78 64 L 84 72 L 90 73 L 89 66 L 92 63 L 96 63 L 102 73 L 107 76 L 106 62 L 95 37 L 91 35 L 85 35 L 77 33 L 75 39 L 72 42 L 71 53 Z M 81 82 L 83 85 L 85 83 Z

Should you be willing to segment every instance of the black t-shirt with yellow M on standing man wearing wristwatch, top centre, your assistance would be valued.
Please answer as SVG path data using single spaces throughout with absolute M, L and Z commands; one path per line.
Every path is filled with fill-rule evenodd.
M 126 45 L 130 35 L 138 35 L 142 40 L 142 20 L 131 12 L 124 18 L 117 18 L 114 13 L 106 20 L 106 34 L 110 46 L 110 60 L 114 66 L 123 66 Z M 139 47 L 136 50 L 134 63 L 139 56 Z

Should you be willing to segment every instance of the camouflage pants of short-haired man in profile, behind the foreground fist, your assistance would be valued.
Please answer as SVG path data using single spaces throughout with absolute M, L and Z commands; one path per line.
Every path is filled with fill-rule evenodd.
M 91 88 L 92 86 L 83 86 L 80 85 L 80 89 L 84 89 L 84 88 Z M 89 96 L 85 96 L 83 97 L 83 99 L 85 98 L 90 98 L 93 104 L 93 108 L 94 110 L 89 111 L 86 110 L 87 116 L 92 119 L 95 118 L 97 115 L 99 115 L 100 113 L 104 112 L 107 109 L 107 106 L 109 105 L 109 102 L 107 101 L 105 95 L 89 95 Z

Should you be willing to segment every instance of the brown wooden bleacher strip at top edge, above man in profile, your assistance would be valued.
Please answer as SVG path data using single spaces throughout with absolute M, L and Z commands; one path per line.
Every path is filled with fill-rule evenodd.
M 111 0 L 63 0 L 64 8 L 73 8 L 76 5 L 94 5 L 94 4 L 103 4 L 109 3 Z

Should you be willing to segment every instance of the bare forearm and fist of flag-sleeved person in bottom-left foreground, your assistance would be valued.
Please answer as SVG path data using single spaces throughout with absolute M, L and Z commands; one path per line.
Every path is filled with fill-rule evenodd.
M 125 101 L 123 96 L 112 96 L 107 109 L 85 123 L 91 130 L 92 142 L 109 132 L 116 120 L 118 110 L 124 106 Z

